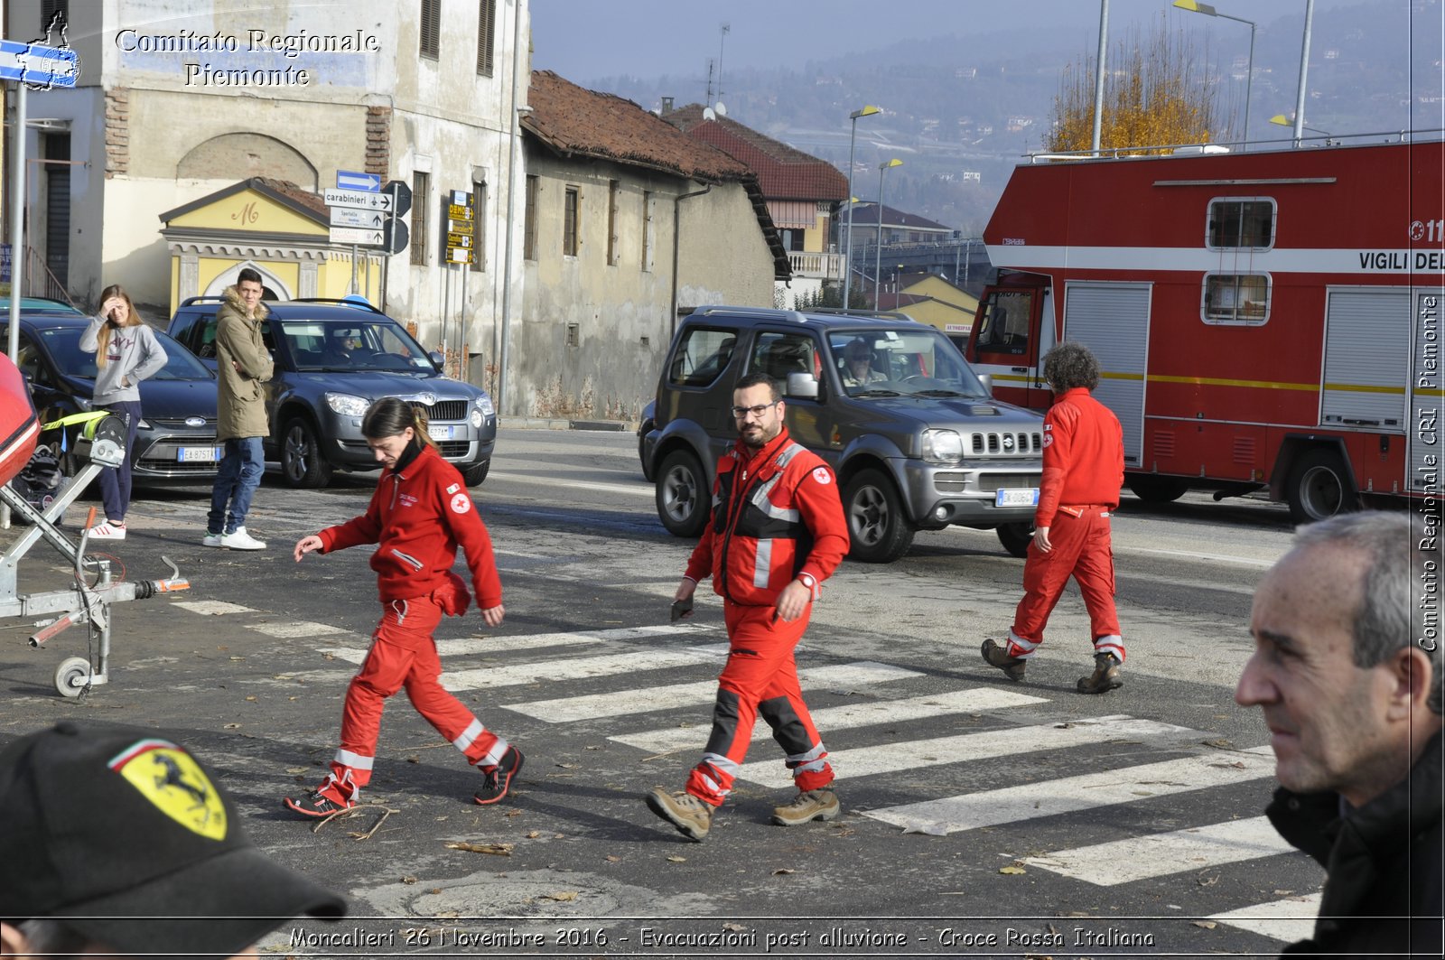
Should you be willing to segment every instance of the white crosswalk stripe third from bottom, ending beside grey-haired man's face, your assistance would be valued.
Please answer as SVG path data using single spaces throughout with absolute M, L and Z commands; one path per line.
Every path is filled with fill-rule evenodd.
M 1267 746 L 1228 753 L 1212 750 L 1179 760 L 1065 776 L 1046 785 L 1023 784 L 886 810 L 868 810 L 864 815 L 903 827 L 905 833 L 944 836 L 1273 775 L 1274 756 Z

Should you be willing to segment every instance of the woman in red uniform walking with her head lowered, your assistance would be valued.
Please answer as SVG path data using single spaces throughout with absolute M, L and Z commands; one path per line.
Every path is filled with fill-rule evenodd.
M 367 512 L 296 542 L 296 562 L 314 551 L 329 554 L 376 544 L 371 570 L 381 594 L 381 623 L 371 649 L 347 688 L 341 710 L 341 747 L 327 779 L 286 807 L 306 817 L 327 817 L 354 807 L 371 781 L 381 708 L 405 688 L 416 711 L 483 773 L 478 804 L 494 804 L 522 769 L 522 752 L 481 726 L 471 710 L 441 685 L 442 665 L 432 632 L 442 614 L 461 616 L 471 594 L 452 573 L 461 545 L 487 626 L 501 626 L 501 580 L 491 536 L 477 516 L 461 474 L 441 458 L 420 409 L 394 396 L 373 403 L 361 434 L 384 466 Z

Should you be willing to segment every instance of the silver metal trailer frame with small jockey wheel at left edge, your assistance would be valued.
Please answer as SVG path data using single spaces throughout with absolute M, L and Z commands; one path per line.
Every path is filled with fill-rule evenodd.
M 55 690 L 62 697 L 79 697 L 92 687 L 110 682 L 110 607 L 113 603 L 144 600 L 159 593 L 175 593 L 191 587 L 168 557 L 160 560 L 171 567 L 171 577 L 116 583 L 111 580 L 111 561 L 85 555 L 90 523 L 81 531 L 78 542 L 71 542 L 69 536 L 58 526 L 65 507 L 85 490 L 91 480 L 103 468 L 120 466 L 124 460 L 124 427 L 116 416 L 105 415 L 88 424 L 75 445 L 77 460 L 84 461 L 85 466 L 69 479 L 43 512 L 33 507 L 9 483 L 0 486 L 0 500 L 30 525 L 0 555 L 0 617 L 36 617 L 35 626 L 38 629 L 29 638 L 32 648 L 40 646 L 69 626 L 90 625 L 87 655 L 68 656 L 55 668 Z M 75 571 L 75 586 L 69 590 L 22 594 L 19 593 L 20 560 L 42 538 L 71 562 Z

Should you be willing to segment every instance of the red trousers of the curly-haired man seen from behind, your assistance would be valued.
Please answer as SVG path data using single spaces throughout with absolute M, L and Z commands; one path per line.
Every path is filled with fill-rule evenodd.
M 1114 552 L 1108 539 L 1108 506 L 1061 506 L 1049 526 L 1048 554 L 1029 544 L 1023 564 L 1023 600 L 1009 630 L 1009 656 L 1033 656 L 1043 643 L 1043 626 L 1069 575 L 1079 584 L 1088 610 L 1095 653 L 1124 662 L 1124 639 L 1114 610 Z M 1075 516 L 1075 513 L 1078 513 Z

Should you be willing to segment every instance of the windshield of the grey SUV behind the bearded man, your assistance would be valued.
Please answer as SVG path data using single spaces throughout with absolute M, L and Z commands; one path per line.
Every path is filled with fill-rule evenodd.
M 828 347 L 850 396 L 988 396 L 958 347 L 933 327 L 834 330 Z

